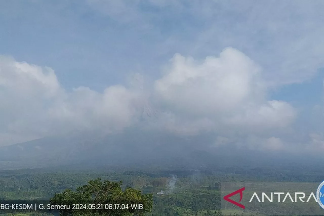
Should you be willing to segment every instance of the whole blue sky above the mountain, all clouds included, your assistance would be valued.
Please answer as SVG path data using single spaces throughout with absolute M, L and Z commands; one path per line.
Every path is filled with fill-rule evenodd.
M 112 123 L 121 123 L 118 129 L 137 124 L 136 112 L 128 108 L 140 107 L 139 101 L 162 113 L 159 126 L 170 130 L 181 126 L 184 127 L 181 131 L 191 132 L 209 128 L 219 133 L 216 140 L 237 140 L 230 136 L 243 131 L 247 140 L 253 137 L 264 145 L 274 142 L 280 148 L 292 143 L 303 146 L 324 143 L 320 121 L 323 119 L 324 3 L 320 0 L 31 0 L 1 1 L 0 5 L 3 64 L 0 78 L 7 80 L 0 88 L 3 91 L 0 112 L 6 119 L 0 126 L 0 136 L 6 141 L 0 145 L 59 134 L 57 128 L 62 125 L 75 129 L 81 123 L 74 119 L 80 117 L 71 117 L 67 114 L 73 113 L 69 109 L 76 109 L 82 115 L 84 128 L 92 128 L 95 118 L 102 119 L 98 113 L 110 116 L 101 126 L 109 131 L 116 129 L 111 127 Z M 213 60 L 205 61 L 206 57 Z M 53 80 L 46 78 L 45 69 L 36 75 L 36 66 L 30 70 L 26 65 L 23 69 L 18 67 L 16 63 L 21 62 L 52 68 Z M 223 68 L 222 72 L 217 72 L 217 68 Z M 8 84 L 11 80 L 21 87 L 17 81 L 20 70 L 33 74 L 21 77 L 21 80 L 30 79 L 22 91 Z M 140 74 L 144 80 L 141 92 L 129 84 L 134 74 Z M 34 90 L 37 86 L 34 79 L 41 83 L 39 89 Z M 122 88 L 110 88 L 115 85 Z M 237 86 L 241 89 L 233 90 Z M 86 88 L 75 90 L 79 87 Z M 49 93 L 55 96 L 49 99 L 40 93 L 47 91 L 55 91 Z M 107 95 L 113 100 L 120 98 L 120 94 L 131 102 L 110 103 L 123 108 L 105 101 Z M 24 111 L 19 109 L 22 99 L 26 100 Z M 88 107 L 83 104 L 87 100 L 100 102 Z M 280 103 L 270 103 L 273 100 Z M 29 103 L 40 105 L 34 107 Z M 274 104 L 280 110 L 273 108 L 277 106 Z M 275 110 L 265 111 L 268 105 Z M 105 106 L 109 114 L 98 111 L 97 106 Z M 206 111 L 202 112 L 204 107 Z M 64 110 L 65 115 L 58 110 Z M 116 110 L 124 110 L 126 114 L 114 113 Z M 96 117 L 85 117 L 89 112 Z M 270 116 L 273 121 L 260 127 L 269 119 L 257 117 L 256 113 Z M 245 131 L 240 127 L 248 119 L 253 124 Z M 29 131 L 26 127 L 30 124 L 42 125 L 43 130 L 35 126 Z M 233 131 L 232 135 L 215 129 L 219 127 Z M 251 132 L 255 127 L 263 129 Z M 303 140 L 291 141 L 294 133 L 300 134 L 299 130 L 304 130 Z

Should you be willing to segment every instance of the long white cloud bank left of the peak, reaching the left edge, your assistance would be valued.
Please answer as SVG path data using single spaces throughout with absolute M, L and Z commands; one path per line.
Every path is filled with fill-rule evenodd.
M 102 93 L 65 90 L 51 68 L 0 57 L 1 144 L 75 130 L 120 130 L 140 114 L 141 93 L 115 85 Z

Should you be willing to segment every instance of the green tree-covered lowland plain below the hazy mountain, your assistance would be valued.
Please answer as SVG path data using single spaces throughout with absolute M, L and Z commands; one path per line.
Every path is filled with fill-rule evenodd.
M 220 215 L 220 183 L 319 182 L 321 172 L 308 169 L 272 170 L 269 167 L 228 167 L 227 169 L 97 169 L 53 171 L 50 169 L 0 171 L 0 199 L 48 200 L 65 189 L 75 190 L 91 179 L 122 181 L 122 189 L 132 187 L 153 194 L 153 209 L 148 216 L 216 216 Z M 258 175 L 256 175 L 258 173 Z M 280 173 L 280 174 L 278 174 Z M 163 191 L 165 194 L 158 195 Z M 223 210 L 224 215 L 256 215 L 255 212 Z M 8 214 L 6 214 L 8 215 Z M 27 216 L 35 214 L 16 213 Z M 41 215 L 41 214 L 38 214 Z

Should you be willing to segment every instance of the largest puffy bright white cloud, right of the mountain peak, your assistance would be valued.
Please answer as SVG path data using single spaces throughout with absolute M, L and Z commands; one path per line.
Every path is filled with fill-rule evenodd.
M 233 48 L 198 63 L 176 54 L 155 89 L 174 112 L 233 126 L 287 126 L 296 112 L 287 102 L 267 101 L 260 67 Z

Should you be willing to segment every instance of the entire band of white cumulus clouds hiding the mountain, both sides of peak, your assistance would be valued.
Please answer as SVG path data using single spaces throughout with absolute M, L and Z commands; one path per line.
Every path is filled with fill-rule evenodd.
M 234 48 L 203 61 L 176 54 L 163 72 L 154 89 L 145 89 L 143 76 L 134 74 L 129 88 L 68 91 L 51 68 L 2 56 L 1 145 L 74 131 L 112 133 L 134 125 L 184 136 L 217 133 L 216 145 L 225 145 L 237 142 L 238 131 L 285 127 L 295 118 L 289 103 L 267 100 L 261 68 Z M 279 148 L 277 139 L 267 143 Z

